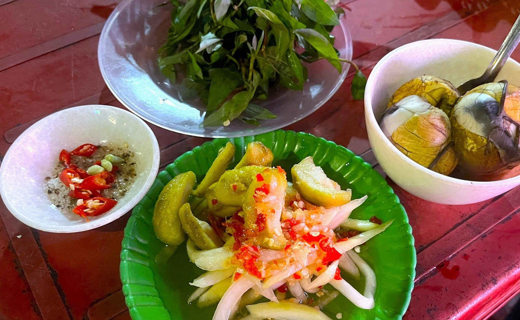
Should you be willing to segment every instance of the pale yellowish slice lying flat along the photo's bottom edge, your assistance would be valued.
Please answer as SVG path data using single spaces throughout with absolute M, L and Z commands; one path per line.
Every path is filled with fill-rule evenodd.
M 331 320 L 323 312 L 311 306 L 280 301 L 264 302 L 246 306 L 254 317 L 264 317 L 278 320 Z

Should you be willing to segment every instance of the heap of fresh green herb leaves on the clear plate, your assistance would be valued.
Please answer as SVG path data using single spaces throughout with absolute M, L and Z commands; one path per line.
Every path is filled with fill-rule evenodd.
M 172 25 L 158 65 L 171 82 L 181 80 L 179 97 L 200 97 L 207 106 L 202 126 L 248 124 L 275 118 L 252 104 L 269 88 L 302 90 L 307 68 L 327 59 L 338 72 L 341 61 L 357 70 L 352 85 L 362 99 L 366 78 L 351 61 L 339 58 L 330 34 L 343 14 L 323 0 L 188 0 L 173 3 Z M 182 76 L 182 77 L 181 77 Z

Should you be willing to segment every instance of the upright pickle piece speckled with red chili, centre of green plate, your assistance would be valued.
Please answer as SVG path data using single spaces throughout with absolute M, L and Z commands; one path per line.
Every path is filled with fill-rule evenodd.
M 255 244 L 274 250 L 285 246 L 280 216 L 285 204 L 285 171 L 266 168 L 249 186 L 244 203 L 245 228 L 257 232 Z

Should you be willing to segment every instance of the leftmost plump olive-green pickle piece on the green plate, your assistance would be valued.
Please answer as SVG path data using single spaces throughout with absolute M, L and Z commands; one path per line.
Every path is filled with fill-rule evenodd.
M 173 178 L 159 194 L 153 210 L 153 230 L 159 240 L 166 244 L 178 245 L 185 239 L 180 225 L 179 209 L 188 202 L 197 177 L 192 171 Z

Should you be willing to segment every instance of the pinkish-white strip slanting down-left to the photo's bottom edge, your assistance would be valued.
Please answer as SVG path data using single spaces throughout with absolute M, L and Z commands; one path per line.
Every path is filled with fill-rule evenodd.
M 245 291 L 251 289 L 255 284 L 246 277 L 240 277 L 237 281 L 233 281 L 229 289 L 220 302 L 218 302 L 217 310 L 213 314 L 213 320 L 229 320 L 238 310 L 240 298 Z

